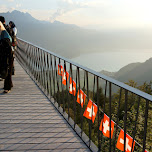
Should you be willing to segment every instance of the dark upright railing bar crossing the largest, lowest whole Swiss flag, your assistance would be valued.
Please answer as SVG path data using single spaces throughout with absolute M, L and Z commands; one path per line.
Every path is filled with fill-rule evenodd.
M 128 90 L 125 90 L 125 115 L 124 115 L 124 151 L 126 149 L 126 129 L 127 129 L 127 101 L 128 101 Z

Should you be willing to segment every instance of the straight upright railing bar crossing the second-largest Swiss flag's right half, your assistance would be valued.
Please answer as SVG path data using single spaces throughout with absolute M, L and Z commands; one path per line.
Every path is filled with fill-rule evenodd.
M 110 140 L 109 140 L 109 144 L 110 144 L 110 146 L 109 146 L 109 152 L 111 152 L 111 96 L 112 96 L 112 93 L 111 93 L 111 91 L 112 91 L 112 89 L 111 89 L 111 82 L 109 82 L 109 117 L 110 117 L 110 125 L 109 125 L 109 130 L 110 130 Z

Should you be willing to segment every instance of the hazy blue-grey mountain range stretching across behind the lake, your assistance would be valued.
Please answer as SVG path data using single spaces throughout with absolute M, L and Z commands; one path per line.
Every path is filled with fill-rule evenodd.
M 5 17 L 7 24 L 10 20 L 15 22 L 19 38 L 67 58 L 90 52 L 152 49 L 152 29 L 99 32 L 58 21 L 40 21 L 17 10 L 0 15 Z

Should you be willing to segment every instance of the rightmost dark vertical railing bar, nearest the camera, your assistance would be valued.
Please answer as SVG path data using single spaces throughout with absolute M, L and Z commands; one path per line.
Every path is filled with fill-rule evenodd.
M 146 100 L 145 123 L 144 123 L 144 138 L 143 138 L 143 152 L 145 152 L 145 149 L 146 149 L 146 134 L 147 134 L 148 109 L 149 109 L 149 100 Z

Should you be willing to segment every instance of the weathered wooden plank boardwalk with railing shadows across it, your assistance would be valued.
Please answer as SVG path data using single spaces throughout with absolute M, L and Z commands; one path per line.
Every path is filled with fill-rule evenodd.
M 17 62 L 15 67 L 9 94 L 0 81 L 0 151 L 89 152 Z

